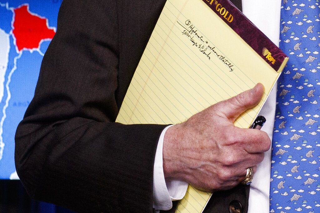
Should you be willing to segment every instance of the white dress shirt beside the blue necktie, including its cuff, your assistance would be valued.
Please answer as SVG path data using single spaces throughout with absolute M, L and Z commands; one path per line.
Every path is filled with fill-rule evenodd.
M 268 38 L 279 46 L 280 33 L 280 0 L 257 1 L 242 0 L 243 13 L 254 25 L 257 26 Z M 259 67 L 257 67 L 259 69 Z M 276 88 L 274 88 L 259 115 L 263 115 L 267 122 L 261 130 L 268 133 L 272 139 L 273 125 L 276 110 Z M 155 209 L 169 210 L 173 200 L 184 197 L 188 184 L 179 180 L 165 179 L 163 172 L 162 148 L 165 128 L 159 138 L 154 163 L 153 181 L 153 207 Z M 248 213 L 269 212 L 271 148 L 265 153 L 264 160 L 258 165 L 254 179 L 250 185 Z M 214 199 L 212 197 L 211 199 Z

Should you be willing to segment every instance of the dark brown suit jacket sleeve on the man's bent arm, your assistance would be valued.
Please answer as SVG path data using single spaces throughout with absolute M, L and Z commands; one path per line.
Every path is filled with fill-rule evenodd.
M 148 41 L 137 35 L 122 45 L 119 22 L 131 17 L 121 7 L 114 0 L 65 0 L 61 5 L 57 33 L 15 138 L 17 173 L 34 199 L 80 212 L 152 211 L 154 156 L 165 126 L 114 122 L 125 94 L 119 90 L 128 86 L 119 79 L 119 67 L 130 65 L 128 84 L 135 70 L 131 65 L 137 65 L 140 47 Z M 156 11 L 160 14 L 161 6 Z M 141 17 L 135 24 L 143 27 Z M 127 28 L 127 37 L 136 36 Z M 135 42 L 140 56 L 123 58 L 121 50 L 134 49 Z

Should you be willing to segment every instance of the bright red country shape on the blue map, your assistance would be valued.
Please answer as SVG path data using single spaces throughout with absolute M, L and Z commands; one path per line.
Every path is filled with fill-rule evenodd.
M 38 48 L 42 39 L 52 39 L 55 32 L 47 27 L 46 19 L 32 15 L 28 5 L 14 9 L 13 35 L 18 50 Z

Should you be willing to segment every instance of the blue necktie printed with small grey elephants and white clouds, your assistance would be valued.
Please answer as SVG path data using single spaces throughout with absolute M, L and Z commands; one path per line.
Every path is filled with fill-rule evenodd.
M 280 49 L 290 59 L 277 84 L 270 212 L 320 212 L 320 8 L 283 0 Z

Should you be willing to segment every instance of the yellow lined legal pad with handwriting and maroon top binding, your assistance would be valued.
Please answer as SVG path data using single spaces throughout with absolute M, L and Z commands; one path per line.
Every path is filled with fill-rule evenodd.
M 235 121 L 248 128 L 287 60 L 229 1 L 167 0 L 116 122 L 184 122 L 260 82 L 262 100 Z M 189 185 L 177 211 L 201 212 L 210 195 Z

